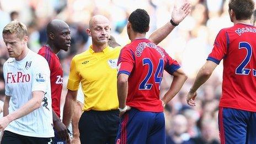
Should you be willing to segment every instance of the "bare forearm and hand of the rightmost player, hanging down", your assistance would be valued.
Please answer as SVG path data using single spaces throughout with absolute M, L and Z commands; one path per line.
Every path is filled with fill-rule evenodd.
M 190 106 L 195 106 L 194 99 L 196 97 L 196 90 L 198 90 L 198 88 L 210 78 L 216 66 L 217 63 L 213 61 L 206 61 L 205 65 L 199 70 L 193 86 L 190 88 L 188 95 L 186 95 L 186 102 Z

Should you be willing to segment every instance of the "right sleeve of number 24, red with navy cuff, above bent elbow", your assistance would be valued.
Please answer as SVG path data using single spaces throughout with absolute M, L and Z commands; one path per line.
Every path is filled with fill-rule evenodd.
M 173 74 L 175 71 L 177 71 L 180 68 L 179 63 L 174 60 L 172 57 L 170 57 L 167 52 L 165 52 L 165 61 L 166 65 L 164 66 L 164 70 L 166 70 L 169 74 Z

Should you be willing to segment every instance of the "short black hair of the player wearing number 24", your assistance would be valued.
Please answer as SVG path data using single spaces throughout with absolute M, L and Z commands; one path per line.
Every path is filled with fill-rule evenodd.
M 128 18 L 131 28 L 137 33 L 146 33 L 150 26 L 150 15 L 144 9 L 136 9 Z

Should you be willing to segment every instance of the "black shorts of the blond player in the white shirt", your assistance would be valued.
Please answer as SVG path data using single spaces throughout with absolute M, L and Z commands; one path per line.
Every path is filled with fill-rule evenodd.
M 54 138 L 31 137 L 4 131 L 1 144 L 45 144 L 54 143 Z

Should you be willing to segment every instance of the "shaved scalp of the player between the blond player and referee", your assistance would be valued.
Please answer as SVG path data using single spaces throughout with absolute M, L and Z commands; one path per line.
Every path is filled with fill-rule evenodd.
M 62 31 L 63 29 L 69 29 L 67 23 L 60 19 L 54 19 L 47 24 L 46 32 L 49 36 L 50 33 L 56 33 L 57 31 Z

